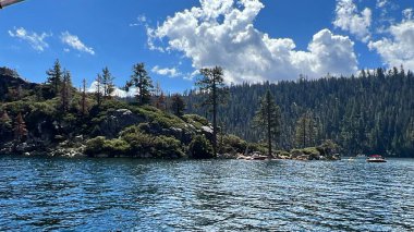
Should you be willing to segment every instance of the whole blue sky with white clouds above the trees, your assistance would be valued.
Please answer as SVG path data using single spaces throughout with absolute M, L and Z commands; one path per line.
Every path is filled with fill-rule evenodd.
M 122 3 L 121 3 L 122 2 Z M 220 65 L 228 84 L 414 70 L 414 0 L 26 0 L 0 10 L 0 66 L 73 83 L 108 66 L 123 86 L 144 62 L 168 93 Z

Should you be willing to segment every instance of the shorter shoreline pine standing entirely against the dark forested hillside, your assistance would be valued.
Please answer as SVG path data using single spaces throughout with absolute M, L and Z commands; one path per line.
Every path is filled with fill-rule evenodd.
M 280 136 L 280 108 L 275 103 L 273 96 L 269 89 L 260 101 L 259 109 L 254 118 L 254 124 L 265 132 L 268 157 L 271 158 L 272 141 Z

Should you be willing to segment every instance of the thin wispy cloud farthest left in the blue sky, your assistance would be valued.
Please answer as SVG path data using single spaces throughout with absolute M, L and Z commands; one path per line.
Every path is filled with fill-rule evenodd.
M 9 35 L 11 37 L 16 37 L 22 40 L 27 41 L 33 49 L 36 51 L 45 51 L 46 48 L 49 47 L 49 45 L 45 41 L 47 37 L 52 36 L 51 34 L 41 33 L 37 34 L 34 32 L 27 32 L 25 28 L 14 28 L 14 32 L 9 30 Z

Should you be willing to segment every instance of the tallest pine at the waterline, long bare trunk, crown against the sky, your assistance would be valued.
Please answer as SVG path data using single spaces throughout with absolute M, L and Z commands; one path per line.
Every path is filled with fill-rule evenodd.
M 208 107 L 212 112 L 212 151 L 217 156 L 218 107 L 224 103 L 228 94 L 224 86 L 224 73 L 220 66 L 202 69 L 199 72 L 203 77 L 197 80 L 196 85 L 203 94 L 207 95 L 207 99 L 203 102 L 203 106 Z

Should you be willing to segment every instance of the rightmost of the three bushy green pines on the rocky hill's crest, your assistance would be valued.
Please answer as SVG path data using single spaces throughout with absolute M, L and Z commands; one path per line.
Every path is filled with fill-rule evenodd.
M 136 99 L 139 106 L 150 103 L 151 99 L 151 89 L 153 81 L 148 76 L 147 71 L 145 70 L 144 63 L 137 63 L 133 66 L 133 74 L 131 75 L 131 81 L 126 83 L 126 90 L 131 87 L 135 86 L 137 88 Z

